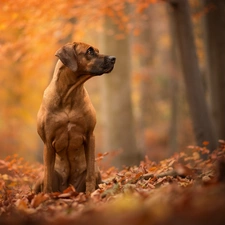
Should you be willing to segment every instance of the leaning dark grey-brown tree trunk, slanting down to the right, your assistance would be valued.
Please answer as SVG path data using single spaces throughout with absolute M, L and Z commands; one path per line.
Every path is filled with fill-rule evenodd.
M 187 0 L 171 2 L 196 142 L 201 146 L 204 141 L 208 141 L 208 148 L 214 150 L 217 142 L 200 77 L 189 4 Z

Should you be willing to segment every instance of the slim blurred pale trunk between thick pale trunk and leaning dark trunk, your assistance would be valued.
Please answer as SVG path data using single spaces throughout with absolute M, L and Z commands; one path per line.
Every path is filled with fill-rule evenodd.
M 150 5 L 144 10 L 144 13 L 137 18 L 134 18 L 134 23 L 138 27 L 138 35 L 132 37 L 133 53 L 132 61 L 137 61 L 137 68 L 132 66 L 134 70 L 134 81 L 138 83 L 137 105 L 137 140 L 138 147 L 147 154 L 147 145 L 145 141 L 145 133 L 149 127 L 152 127 L 152 122 L 157 117 L 155 106 L 155 96 L 153 94 L 153 70 L 154 59 L 156 53 L 156 40 L 153 26 L 152 14 L 154 13 L 153 5 Z M 138 82 L 137 82 L 138 81 Z M 136 97 L 137 99 L 137 97 Z

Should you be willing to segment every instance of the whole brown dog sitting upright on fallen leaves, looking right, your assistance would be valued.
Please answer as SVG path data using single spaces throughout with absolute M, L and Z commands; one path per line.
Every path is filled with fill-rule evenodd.
M 84 43 L 69 43 L 59 58 L 38 112 L 37 130 L 44 142 L 44 178 L 35 191 L 63 191 L 72 184 L 92 192 L 100 182 L 95 172 L 96 115 L 83 84 L 112 71 L 116 58 Z

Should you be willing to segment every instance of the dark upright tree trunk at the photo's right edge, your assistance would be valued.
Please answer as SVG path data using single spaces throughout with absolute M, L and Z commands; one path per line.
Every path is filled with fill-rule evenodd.
M 217 137 L 225 139 L 225 1 L 204 0 L 208 80 Z

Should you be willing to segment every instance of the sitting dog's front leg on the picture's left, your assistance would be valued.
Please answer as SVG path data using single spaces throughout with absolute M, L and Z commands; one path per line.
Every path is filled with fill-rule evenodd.
M 44 193 L 51 193 L 53 186 L 55 152 L 52 147 L 44 146 Z

